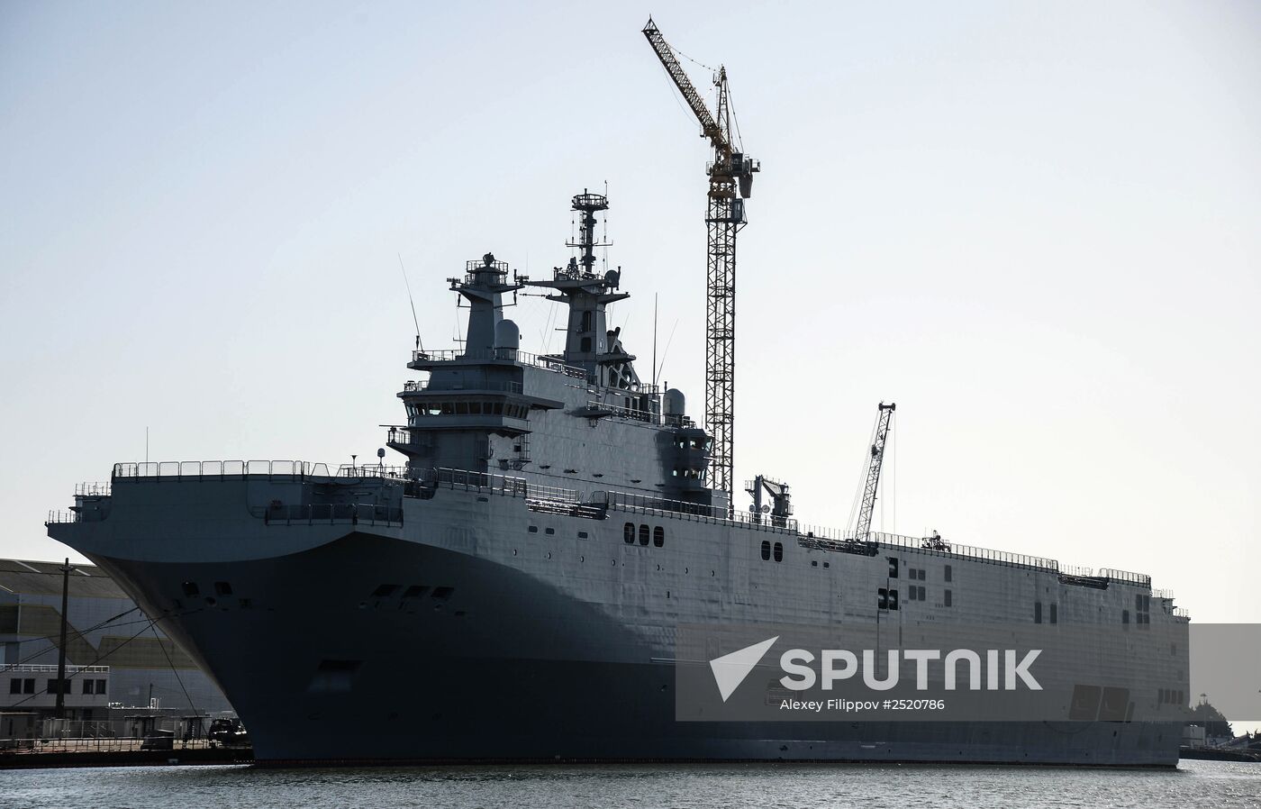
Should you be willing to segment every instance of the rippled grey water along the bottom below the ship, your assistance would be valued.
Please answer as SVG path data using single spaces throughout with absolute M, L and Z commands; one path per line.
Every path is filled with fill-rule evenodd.
M 0 806 L 1261 808 L 1261 764 L 1183 761 L 1177 770 L 796 764 L 9 770 L 0 771 Z

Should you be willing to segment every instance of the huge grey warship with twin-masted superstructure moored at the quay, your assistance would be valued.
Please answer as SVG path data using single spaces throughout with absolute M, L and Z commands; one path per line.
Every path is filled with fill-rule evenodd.
M 1185 704 L 1185 645 L 1135 646 L 1120 671 L 1135 684 L 1129 711 L 1071 726 L 682 721 L 683 625 L 900 637 L 1188 618 L 1146 576 L 939 536 L 806 530 L 788 486 L 769 478 L 749 483 L 752 509 L 736 507 L 711 483 L 711 430 L 681 391 L 639 376 L 609 327 L 609 304 L 628 295 L 620 268 L 596 268 L 607 208 L 603 194 L 572 198 L 580 235 L 549 278 L 487 254 L 449 279 L 465 340 L 410 356 L 406 419 L 386 425 L 405 462 L 387 466 L 382 448 L 375 464 L 337 468 L 119 463 L 108 487 L 82 487 L 49 516 L 49 535 L 108 572 L 214 678 L 264 762 L 1177 764 L 1174 714 L 1135 719 L 1132 708 Z M 562 351 L 521 348 L 503 312 L 527 289 L 567 312 Z

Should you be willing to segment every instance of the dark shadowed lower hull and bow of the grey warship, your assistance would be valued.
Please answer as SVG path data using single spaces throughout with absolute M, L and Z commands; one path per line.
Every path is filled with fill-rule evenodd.
M 260 761 L 1178 761 L 1171 722 L 678 722 L 660 636 L 397 531 L 213 562 L 91 545 L 221 684 Z

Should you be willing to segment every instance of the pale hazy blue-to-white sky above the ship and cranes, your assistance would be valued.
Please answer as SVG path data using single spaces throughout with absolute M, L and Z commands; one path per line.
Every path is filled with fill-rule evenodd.
M 736 480 L 844 528 L 897 401 L 878 526 L 1261 621 L 1261 5 L 718 8 L 0 3 L 0 554 L 64 555 L 47 510 L 146 425 L 151 459 L 371 456 L 416 376 L 397 254 L 451 346 L 443 279 L 564 264 L 605 180 L 612 322 L 647 358 L 660 293 L 700 415 L 709 155 L 656 10 L 763 162 Z

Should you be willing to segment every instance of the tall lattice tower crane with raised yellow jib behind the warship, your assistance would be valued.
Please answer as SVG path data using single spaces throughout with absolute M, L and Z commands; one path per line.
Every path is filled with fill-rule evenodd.
M 706 165 L 705 425 L 714 439 L 710 482 L 715 490 L 726 492 L 730 511 L 735 443 L 735 235 L 745 225 L 744 199 L 753 193 L 753 174 L 762 167 L 733 138 L 726 68 L 719 67 L 714 77 L 718 110 L 711 114 L 652 18 L 643 35 L 700 122 L 701 138 L 709 139 L 714 148 L 714 159 Z

